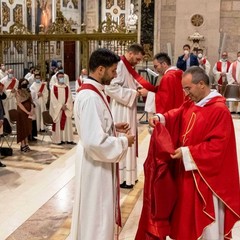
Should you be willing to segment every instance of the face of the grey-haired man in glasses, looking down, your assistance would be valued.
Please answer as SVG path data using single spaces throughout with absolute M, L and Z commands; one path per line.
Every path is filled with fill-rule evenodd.
M 182 78 L 182 86 L 186 95 L 194 102 L 199 102 L 205 97 L 206 88 L 203 81 L 192 82 L 192 74 L 186 74 Z

